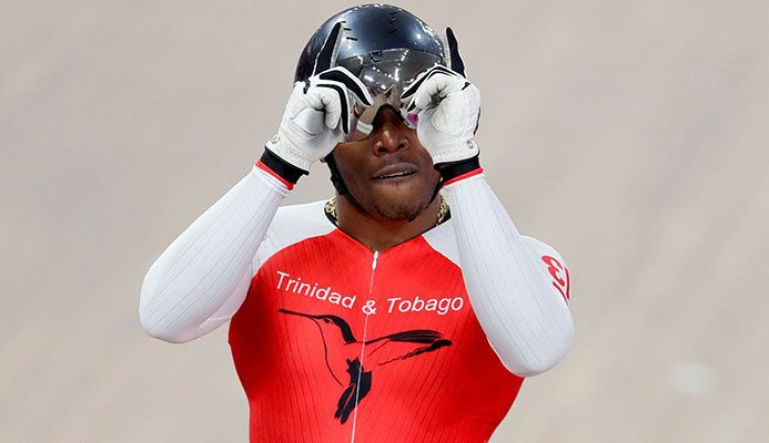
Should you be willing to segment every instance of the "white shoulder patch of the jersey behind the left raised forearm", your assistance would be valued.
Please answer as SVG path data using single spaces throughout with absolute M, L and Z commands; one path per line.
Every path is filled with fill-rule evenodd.
M 326 235 L 336 227 L 323 207 L 326 200 L 282 206 L 270 224 L 267 234 L 254 257 L 254 272 L 275 253 L 307 238 Z

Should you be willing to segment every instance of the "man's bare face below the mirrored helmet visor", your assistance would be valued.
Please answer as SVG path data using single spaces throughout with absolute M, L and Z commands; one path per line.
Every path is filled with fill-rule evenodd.
M 365 138 L 340 143 L 332 155 L 350 194 L 367 214 L 411 219 L 429 205 L 441 175 L 416 131 L 383 106 Z

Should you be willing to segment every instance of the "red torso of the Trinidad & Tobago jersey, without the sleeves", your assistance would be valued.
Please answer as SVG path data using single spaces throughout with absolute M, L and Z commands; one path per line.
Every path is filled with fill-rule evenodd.
M 321 204 L 294 210 L 305 227 L 279 212 L 230 326 L 251 441 L 487 441 L 524 379 L 475 318 L 451 220 L 372 253 Z

